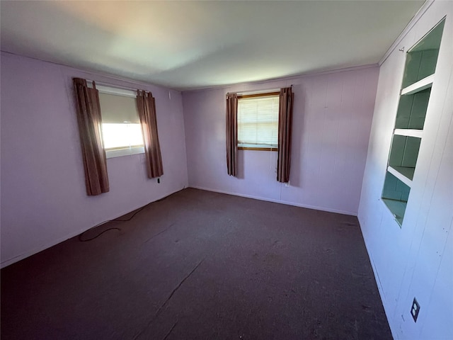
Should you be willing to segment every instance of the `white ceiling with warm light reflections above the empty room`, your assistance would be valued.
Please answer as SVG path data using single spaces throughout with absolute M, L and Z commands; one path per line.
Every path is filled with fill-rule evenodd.
M 0 1 L 1 50 L 198 89 L 376 64 L 424 1 Z

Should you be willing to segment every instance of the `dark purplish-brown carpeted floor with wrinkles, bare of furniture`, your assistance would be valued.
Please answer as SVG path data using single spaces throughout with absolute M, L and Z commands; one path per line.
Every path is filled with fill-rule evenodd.
M 356 217 L 189 188 L 101 232 L 1 270 L 2 340 L 391 339 Z

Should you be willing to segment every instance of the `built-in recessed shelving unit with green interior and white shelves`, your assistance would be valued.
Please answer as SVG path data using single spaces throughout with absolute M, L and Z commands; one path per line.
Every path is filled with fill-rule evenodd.
M 406 53 L 403 84 L 382 190 L 382 201 L 400 226 L 403 224 L 423 140 L 444 23 L 445 19 Z

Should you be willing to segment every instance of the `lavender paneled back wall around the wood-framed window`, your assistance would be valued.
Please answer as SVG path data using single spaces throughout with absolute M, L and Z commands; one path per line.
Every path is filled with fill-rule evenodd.
M 378 67 L 183 93 L 189 185 L 357 215 Z M 226 174 L 225 94 L 293 85 L 289 186 L 276 181 L 277 152 L 239 151 Z

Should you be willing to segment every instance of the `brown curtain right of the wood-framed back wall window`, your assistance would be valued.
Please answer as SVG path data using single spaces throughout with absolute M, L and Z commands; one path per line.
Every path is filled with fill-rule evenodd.
M 291 130 L 292 106 L 294 94 L 290 87 L 280 89 L 280 107 L 278 110 L 278 160 L 277 181 L 289 181 L 289 168 L 291 165 Z

